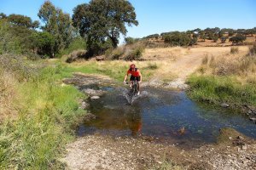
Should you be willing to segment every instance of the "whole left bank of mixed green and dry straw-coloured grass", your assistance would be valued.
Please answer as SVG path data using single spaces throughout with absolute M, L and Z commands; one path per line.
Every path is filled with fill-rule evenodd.
M 73 86 L 61 86 L 66 77 L 61 65 L 19 60 L 5 66 L 9 68 L 0 71 L 0 168 L 63 168 L 57 158 L 86 115 L 79 108 L 79 99 L 86 96 Z

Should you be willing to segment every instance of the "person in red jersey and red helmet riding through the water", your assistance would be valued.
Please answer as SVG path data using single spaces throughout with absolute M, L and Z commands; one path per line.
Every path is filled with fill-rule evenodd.
M 130 78 L 130 87 L 133 83 L 133 81 L 137 80 L 137 84 L 138 84 L 138 92 L 137 92 L 137 95 L 140 94 L 140 83 L 143 81 L 143 77 L 142 77 L 142 74 L 141 72 L 136 68 L 136 66 L 134 64 L 131 64 L 130 65 L 130 69 L 127 71 L 127 74 L 125 75 L 125 80 L 124 82 L 126 82 L 126 79 L 127 77 L 131 75 L 131 78 Z

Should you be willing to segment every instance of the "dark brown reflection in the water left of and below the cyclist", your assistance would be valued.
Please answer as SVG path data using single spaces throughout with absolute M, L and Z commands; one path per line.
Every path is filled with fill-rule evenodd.
M 96 114 L 96 120 L 86 122 L 86 126 L 108 130 L 130 130 L 132 135 L 136 135 L 142 128 L 141 108 L 125 103 L 121 96 L 107 98 L 104 101 L 94 101 L 91 103 L 90 111 Z M 106 98 L 106 96 L 105 96 Z M 122 105 L 116 103 L 121 101 Z M 116 105 L 114 105 L 116 103 Z

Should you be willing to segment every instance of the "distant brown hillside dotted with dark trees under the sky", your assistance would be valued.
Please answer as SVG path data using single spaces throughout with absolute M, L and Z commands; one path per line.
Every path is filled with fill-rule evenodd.
M 126 38 L 131 41 L 131 37 Z M 143 38 L 134 38 L 143 41 L 150 48 L 165 46 L 202 46 L 224 47 L 230 45 L 252 45 L 256 41 L 256 27 L 252 29 L 220 29 L 199 28 L 191 31 L 170 31 L 153 34 Z M 129 43 L 129 42 L 126 42 Z

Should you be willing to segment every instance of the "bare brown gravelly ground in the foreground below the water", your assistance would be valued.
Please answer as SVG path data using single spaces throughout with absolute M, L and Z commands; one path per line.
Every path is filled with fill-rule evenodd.
M 61 161 L 70 169 L 84 170 L 161 169 L 166 164 L 166 169 L 256 169 L 255 141 L 235 134 L 224 135 L 222 143 L 190 150 L 148 139 L 87 135 L 68 144 Z

